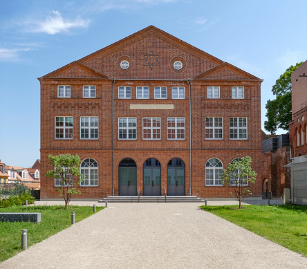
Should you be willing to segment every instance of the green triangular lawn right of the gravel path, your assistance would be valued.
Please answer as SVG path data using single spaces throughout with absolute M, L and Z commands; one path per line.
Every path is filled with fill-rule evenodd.
M 307 257 L 307 207 L 304 205 L 201 206 L 203 210 Z

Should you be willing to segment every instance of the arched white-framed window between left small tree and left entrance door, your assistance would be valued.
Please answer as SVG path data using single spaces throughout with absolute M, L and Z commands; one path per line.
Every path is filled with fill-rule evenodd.
M 98 186 L 98 164 L 92 158 L 86 158 L 80 165 L 80 173 L 85 179 L 80 183 L 81 186 Z

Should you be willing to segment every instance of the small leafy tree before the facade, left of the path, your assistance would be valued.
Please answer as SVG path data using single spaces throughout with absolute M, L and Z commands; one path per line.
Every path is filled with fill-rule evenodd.
M 80 184 L 84 180 L 84 176 L 80 174 L 80 157 L 71 154 L 61 154 L 57 156 L 49 155 L 50 164 L 55 167 L 54 170 L 49 170 L 45 174 L 49 178 L 55 178 L 58 180 L 59 187 L 56 187 L 56 191 L 60 196 L 64 197 L 65 208 L 68 207 L 73 194 L 81 194 L 81 192 L 75 189 L 73 185 Z M 77 177 L 77 182 L 74 183 L 73 179 Z

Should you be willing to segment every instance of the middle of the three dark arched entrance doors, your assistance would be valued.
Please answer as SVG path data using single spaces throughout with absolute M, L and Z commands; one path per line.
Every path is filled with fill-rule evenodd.
M 143 165 L 143 195 L 161 195 L 161 165 L 155 158 L 147 159 Z

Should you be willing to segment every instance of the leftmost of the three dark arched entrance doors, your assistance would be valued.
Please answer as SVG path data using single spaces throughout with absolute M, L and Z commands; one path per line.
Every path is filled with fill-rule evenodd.
M 136 162 L 131 158 L 118 166 L 118 187 L 120 196 L 136 196 Z

